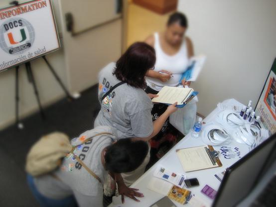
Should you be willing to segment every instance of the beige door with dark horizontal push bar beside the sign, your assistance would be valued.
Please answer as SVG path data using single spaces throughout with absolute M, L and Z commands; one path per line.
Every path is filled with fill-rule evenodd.
M 59 0 L 70 91 L 98 83 L 98 73 L 122 52 L 121 0 Z

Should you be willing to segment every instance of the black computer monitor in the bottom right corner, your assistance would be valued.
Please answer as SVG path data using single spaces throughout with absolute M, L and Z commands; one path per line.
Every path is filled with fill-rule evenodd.
M 276 134 L 226 169 L 212 207 L 234 207 L 245 199 L 275 161 L 275 151 Z

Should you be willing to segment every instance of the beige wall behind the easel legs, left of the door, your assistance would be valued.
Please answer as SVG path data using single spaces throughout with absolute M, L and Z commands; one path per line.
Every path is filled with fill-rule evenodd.
M 25 0 L 19 0 L 23 2 Z M 0 0 L 0 7 L 6 7 L 10 0 Z M 53 0 L 54 10 L 58 11 L 57 0 Z M 56 16 L 59 17 L 58 15 Z M 57 19 L 59 21 L 59 19 Z M 58 25 L 59 26 L 59 25 Z M 63 50 L 46 55 L 48 61 L 55 68 L 60 78 L 66 85 L 66 68 Z M 63 91 L 52 76 L 46 63 L 39 58 L 31 61 L 33 74 L 43 106 L 48 105 L 64 96 Z M 38 110 L 37 102 L 33 93 L 32 85 L 26 76 L 25 66 L 19 69 L 19 111 L 20 117 L 24 117 Z M 0 73 L 0 129 L 15 121 L 15 69 Z

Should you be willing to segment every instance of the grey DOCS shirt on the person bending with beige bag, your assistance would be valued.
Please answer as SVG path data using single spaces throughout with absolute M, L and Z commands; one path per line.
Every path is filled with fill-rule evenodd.
M 99 126 L 82 133 L 71 140 L 73 146 L 79 145 L 84 139 L 101 132 L 109 132 L 112 135 L 101 135 L 80 145 L 75 154 L 101 179 L 104 183 L 108 171 L 101 163 L 101 153 L 104 148 L 111 145 L 117 139 L 116 130 L 108 126 Z M 49 199 L 64 199 L 74 195 L 80 207 L 102 206 L 103 185 L 91 176 L 86 169 L 68 154 L 54 174 L 61 180 L 50 175 L 34 178 L 37 190 Z

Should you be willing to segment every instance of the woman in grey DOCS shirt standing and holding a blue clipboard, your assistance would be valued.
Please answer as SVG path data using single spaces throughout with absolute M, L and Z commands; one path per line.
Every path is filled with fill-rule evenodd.
M 101 110 L 94 127 L 112 126 L 121 139 L 136 137 L 149 141 L 161 129 L 169 115 L 177 110 L 176 103 L 152 123 L 152 94 L 144 92 L 145 74 L 155 63 L 154 49 L 136 42 L 115 63 L 105 66 L 99 74 L 99 101 Z M 121 84 L 122 83 L 122 84 Z M 121 84 L 121 85 L 118 85 Z M 112 91 L 110 91 L 112 89 Z M 142 165 L 122 177 L 127 186 L 133 184 L 143 173 L 149 161 L 149 153 Z

